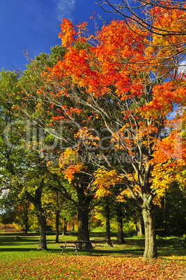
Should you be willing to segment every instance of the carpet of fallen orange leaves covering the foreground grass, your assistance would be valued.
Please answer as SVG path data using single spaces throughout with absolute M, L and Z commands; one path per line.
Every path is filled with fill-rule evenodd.
M 183 269 L 176 261 L 116 256 L 42 256 L 3 263 L 0 272 L 7 279 L 95 279 L 174 280 Z

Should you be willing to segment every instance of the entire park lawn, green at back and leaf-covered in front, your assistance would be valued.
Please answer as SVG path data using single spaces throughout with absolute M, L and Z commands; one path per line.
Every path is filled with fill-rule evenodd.
M 113 247 L 96 244 L 92 256 L 88 251 L 74 255 L 72 249 L 61 254 L 61 244 L 54 235 L 47 235 L 48 251 L 38 251 L 38 235 L 0 233 L 0 279 L 186 279 L 185 244 L 180 238 L 158 238 L 157 260 L 142 260 L 144 238 L 125 238 L 126 244 Z M 100 239 L 102 233 L 92 233 Z M 72 235 L 60 236 L 59 242 L 76 240 Z M 182 275 L 181 275 L 182 274 Z

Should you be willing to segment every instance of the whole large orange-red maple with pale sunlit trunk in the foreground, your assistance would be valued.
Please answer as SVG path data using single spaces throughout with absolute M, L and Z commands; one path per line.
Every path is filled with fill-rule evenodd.
M 160 13 L 160 20 L 164 16 Z M 98 164 L 98 157 L 94 159 L 90 153 L 91 163 L 96 166 L 93 181 L 97 188 L 96 196 L 111 193 L 113 185 L 125 185 L 118 199 L 132 199 L 142 208 L 146 231 L 144 258 L 156 258 L 153 203 L 160 203 L 171 181 L 177 180 L 180 172 L 184 173 L 184 139 L 179 146 L 180 127 L 175 120 L 167 120 L 167 114 L 173 111 L 173 103 L 185 104 L 185 76 L 180 79 L 176 74 L 178 65 L 167 71 L 170 61 L 173 61 L 169 54 L 173 48 L 169 46 L 169 59 L 159 63 L 162 49 L 160 52 L 157 49 L 157 54 L 153 52 L 153 42 L 158 40 L 158 35 L 154 36 L 150 45 L 146 31 L 139 29 L 135 22 L 113 20 L 89 38 L 84 35 L 86 23 L 78 28 L 76 32 L 68 20 L 63 20 L 59 34 L 62 46 L 66 48 L 63 61 L 57 61 L 42 77 L 61 89 L 59 95 L 75 104 L 74 107 L 61 107 L 59 118 L 65 115 L 70 120 L 72 114 L 77 114 L 80 121 L 83 116 L 90 116 L 91 111 L 91 118 L 97 119 L 93 126 L 96 131 L 90 127 L 91 122 L 86 117 L 84 127 L 76 134 L 79 150 L 86 147 L 91 151 L 94 147 L 96 155 L 104 160 L 104 164 Z M 183 39 L 184 36 L 179 39 L 182 45 Z M 183 116 L 181 114 L 182 120 Z M 169 125 L 169 137 L 162 137 L 164 127 Z M 103 130 L 100 132 L 100 127 L 104 127 L 104 132 L 107 130 L 109 148 L 102 145 L 106 137 L 101 138 Z M 77 148 L 71 148 L 66 150 L 65 155 L 68 159 L 75 153 Z M 116 157 L 113 160 L 114 153 L 120 155 L 118 162 Z M 78 155 L 77 158 L 63 170 L 69 180 L 74 178 L 75 173 L 86 169 Z M 60 162 L 64 168 L 64 154 Z

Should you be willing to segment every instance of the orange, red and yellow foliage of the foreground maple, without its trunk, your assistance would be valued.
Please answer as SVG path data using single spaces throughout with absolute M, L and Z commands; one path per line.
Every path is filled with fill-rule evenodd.
M 154 13 L 155 23 L 162 29 L 162 33 L 164 30 L 169 31 L 169 28 L 171 31 L 185 29 L 185 11 L 180 13 L 179 10 L 166 11 L 155 7 L 150 13 Z M 122 125 L 118 131 L 111 127 L 111 142 L 115 150 L 123 151 L 128 156 L 132 168 L 121 173 L 116 171 L 115 166 L 112 166 L 111 171 L 101 169 L 100 172 L 98 169 L 95 173 L 95 185 L 98 186 L 96 195 L 102 196 L 110 192 L 111 186 L 123 182 L 128 187 L 121 194 L 123 196 L 139 199 L 146 193 L 152 198 L 160 198 L 169 184 L 178 179 L 178 170 L 184 176 L 185 141 L 178 141 L 183 138 L 183 127 L 173 127 L 175 120 L 171 122 L 166 118 L 175 106 L 185 106 L 185 75 L 178 75 L 178 65 L 177 68 L 172 65 L 173 55 L 179 56 L 183 52 L 186 38 L 183 35 L 157 34 L 150 42 L 147 34 L 132 21 L 113 20 L 89 38 L 85 35 L 86 23 L 77 27 L 76 32 L 74 26 L 63 19 L 59 38 L 67 52 L 63 61 L 48 68 L 43 77 L 46 82 L 59 86 L 60 95 L 74 97 L 78 104 L 82 102 L 93 107 L 92 104 L 97 102 L 92 116 L 107 123 L 108 127 L 110 120 L 105 119 L 111 117 L 105 102 L 117 100 Z M 92 44 L 88 45 L 88 42 Z M 157 77 L 155 82 L 151 80 L 152 73 Z M 166 79 L 163 81 L 162 77 Z M 160 78 L 162 81 L 159 81 Z M 99 100 L 103 100 L 104 105 L 98 104 Z M 68 105 L 61 110 L 63 114 L 53 120 L 68 119 L 72 114 L 83 118 L 82 112 L 86 112 L 82 107 L 80 109 Z M 185 110 L 180 112 L 176 118 L 185 121 Z M 92 116 L 83 118 L 82 122 L 87 122 Z M 163 127 L 170 127 L 171 130 L 165 139 L 161 139 L 160 135 Z M 100 138 L 93 136 L 86 125 L 75 137 L 84 138 L 84 143 L 91 142 L 99 148 Z M 139 160 L 136 158 L 137 151 Z M 69 181 L 74 178 L 75 172 L 83 169 L 82 162 L 70 163 L 69 160 L 75 155 L 77 150 L 68 149 L 61 155 L 59 162 Z M 158 203 L 158 199 L 155 203 Z

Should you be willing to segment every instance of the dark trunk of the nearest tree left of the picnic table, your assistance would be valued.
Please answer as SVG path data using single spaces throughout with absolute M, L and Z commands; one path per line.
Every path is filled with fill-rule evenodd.
M 46 231 L 47 231 L 47 223 L 45 216 L 42 215 L 42 212 L 37 214 L 38 223 L 40 227 L 40 243 L 38 250 L 47 250 L 47 240 L 46 240 Z

